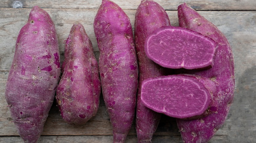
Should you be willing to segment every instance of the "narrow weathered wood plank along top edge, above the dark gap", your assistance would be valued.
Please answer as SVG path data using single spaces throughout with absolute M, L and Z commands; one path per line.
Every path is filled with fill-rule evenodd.
M 4 8 L 12 8 L 13 2 L 16 0 L 2 0 L 0 6 Z M 117 3 L 123 9 L 137 9 L 140 0 L 133 2 L 127 2 L 123 0 L 112 0 Z M 177 7 L 186 2 L 193 8 L 200 10 L 255 10 L 255 0 L 155 0 L 166 10 L 177 10 Z M 42 8 L 72 8 L 72 9 L 97 9 L 101 5 L 101 0 L 76 0 L 75 2 L 70 0 L 51 0 L 48 2 L 41 0 L 19 0 L 22 3 L 23 8 L 31 8 L 32 6 L 39 6 Z M 16 5 L 17 7 L 17 5 Z

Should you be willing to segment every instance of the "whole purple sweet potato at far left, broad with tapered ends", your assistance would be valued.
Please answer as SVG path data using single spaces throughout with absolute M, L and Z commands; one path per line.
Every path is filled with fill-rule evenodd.
M 25 143 L 43 131 L 60 76 L 57 33 L 50 15 L 32 8 L 17 37 L 5 96 L 11 117 Z

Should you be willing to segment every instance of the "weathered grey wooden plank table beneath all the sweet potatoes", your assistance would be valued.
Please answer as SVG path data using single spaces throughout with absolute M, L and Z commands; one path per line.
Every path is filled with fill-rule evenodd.
M 14 0 L 0 1 L 0 143 L 22 142 L 5 101 L 5 85 L 14 56 L 19 30 L 27 22 L 32 6 L 39 6 L 52 17 L 58 33 L 61 61 L 63 41 L 68 37 L 73 23 L 81 23 L 92 40 L 96 58 L 99 57 L 93 22 L 100 0 L 20 0 L 23 8 L 12 8 Z M 134 28 L 135 12 L 140 0 L 113 0 L 130 17 Z M 72 2 L 72 3 L 71 3 Z M 156 0 L 168 13 L 171 24 L 178 26 L 177 7 L 181 0 Z M 255 0 L 186 0 L 186 3 L 214 23 L 229 40 L 235 60 L 235 97 L 223 127 L 210 143 L 256 142 L 256 1 Z M 106 113 L 102 95 L 94 119 L 85 125 L 65 123 L 55 104 L 49 113 L 39 143 L 110 143 L 112 127 Z M 135 124 L 126 139 L 137 142 Z M 181 135 L 173 118 L 163 116 L 153 137 L 153 143 L 181 143 Z

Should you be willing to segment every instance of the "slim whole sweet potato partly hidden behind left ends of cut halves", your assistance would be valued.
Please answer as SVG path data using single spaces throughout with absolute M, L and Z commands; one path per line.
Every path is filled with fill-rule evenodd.
M 169 17 L 165 10 L 153 0 L 142 0 L 135 15 L 135 44 L 139 63 L 139 87 L 136 109 L 136 132 L 139 143 L 150 143 L 161 119 L 157 113 L 140 101 L 141 83 L 147 78 L 167 75 L 166 69 L 147 58 L 144 51 L 146 37 L 154 30 L 168 26 Z

